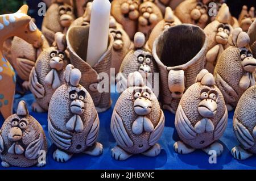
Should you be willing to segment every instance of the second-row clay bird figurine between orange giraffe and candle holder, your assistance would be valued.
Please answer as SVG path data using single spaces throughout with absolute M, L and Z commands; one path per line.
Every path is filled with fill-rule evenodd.
M 36 112 L 48 110 L 53 92 L 64 83 L 63 73 L 69 62 L 65 53 L 65 35 L 57 32 L 53 45 L 55 47 L 49 47 L 40 54 L 30 73 L 30 90 L 36 98 L 32 108 Z

